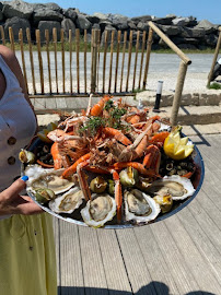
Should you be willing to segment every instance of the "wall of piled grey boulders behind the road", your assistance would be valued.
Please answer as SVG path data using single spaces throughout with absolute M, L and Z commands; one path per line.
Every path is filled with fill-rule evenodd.
M 194 16 L 183 17 L 176 15 L 166 15 L 165 17 L 154 17 L 142 15 L 137 17 L 127 17 L 120 14 L 94 13 L 89 15 L 80 12 L 75 8 L 62 9 L 56 3 L 26 3 L 22 0 L 1 1 L 0 2 L 0 24 L 4 28 L 5 38 L 9 39 L 9 27 L 14 32 L 14 39 L 19 39 L 19 30 L 31 28 L 32 38 L 35 39 L 35 30 L 40 31 L 42 39 L 45 39 L 45 30 L 49 30 L 51 38 L 53 27 L 57 27 L 58 40 L 60 30 L 65 30 L 65 36 L 68 37 L 69 30 L 72 30 L 74 36 L 75 28 L 83 34 L 88 30 L 89 40 L 92 28 L 101 30 L 102 43 L 104 40 L 104 31 L 133 32 L 133 43 L 136 43 L 136 31 L 141 31 L 140 43 L 143 32 L 148 32 L 148 22 L 154 22 L 179 48 L 182 49 L 206 49 L 214 48 L 218 40 L 218 25 L 211 24 L 207 20 L 197 21 Z M 24 34 L 25 35 L 25 34 Z M 121 34 L 123 36 L 123 34 Z M 117 34 L 115 34 L 115 40 Z M 109 36 L 111 39 L 111 36 Z M 153 35 L 153 49 L 165 48 L 162 39 Z

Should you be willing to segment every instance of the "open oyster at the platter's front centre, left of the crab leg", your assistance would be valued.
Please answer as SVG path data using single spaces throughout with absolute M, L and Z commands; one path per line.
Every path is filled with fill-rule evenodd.
M 94 194 L 92 196 L 94 197 Z M 116 214 L 116 202 L 107 193 L 96 194 L 91 201 L 88 201 L 86 206 L 81 210 L 81 215 L 89 226 L 101 227 L 106 222 L 113 220 Z

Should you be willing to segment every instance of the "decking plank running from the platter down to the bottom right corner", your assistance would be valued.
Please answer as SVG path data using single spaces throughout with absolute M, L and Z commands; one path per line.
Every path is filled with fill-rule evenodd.
M 181 221 L 174 215 L 166 220 L 165 225 L 171 232 L 185 264 L 190 270 L 199 290 L 208 291 L 210 288 L 211 292 L 217 294 L 220 290 L 219 276 L 216 278 L 217 272 L 213 271 L 211 264 L 208 264 L 208 261 L 205 261 L 205 257 L 201 256 Z

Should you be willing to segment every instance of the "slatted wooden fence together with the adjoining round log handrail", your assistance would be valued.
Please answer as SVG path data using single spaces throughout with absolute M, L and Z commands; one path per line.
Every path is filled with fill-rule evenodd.
M 39 30 L 36 30 L 36 51 L 33 50 L 28 28 L 25 35 L 27 50 L 24 50 L 22 30 L 19 32 L 20 50 L 15 50 L 11 27 L 9 38 L 12 50 L 20 55 L 22 60 L 23 74 L 31 98 L 85 96 L 90 93 L 128 95 L 136 90 L 146 90 L 153 32 L 155 32 L 182 59 L 171 117 L 172 123 L 175 125 L 187 66 L 191 61 L 152 22 L 149 22 L 149 26 L 148 35 L 146 32 L 130 31 L 129 39 L 128 32 L 104 31 L 101 38 L 101 31 L 92 30 L 90 48 L 88 40 L 90 35 L 84 31 L 81 40 L 78 28 L 74 38 L 71 30 L 69 31 L 68 43 L 63 30 L 60 31 L 59 43 L 56 28 L 53 28 L 53 42 L 49 40 L 48 30 L 45 31 L 44 40 L 40 39 Z M 2 43 L 5 44 L 2 26 L 0 33 Z M 135 52 L 132 52 L 133 42 Z M 44 51 L 43 45 L 45 45 Z M 83 45 L 81 50 L 80 45 L 81 47 Z

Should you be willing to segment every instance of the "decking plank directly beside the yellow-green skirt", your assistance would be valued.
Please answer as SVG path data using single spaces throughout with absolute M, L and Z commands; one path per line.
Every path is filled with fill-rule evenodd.
M 67 286 L 78 286 L 71 294 L 84 294 L 84 280 L 79 245 L 78 226 L 60 220 L 60 286 L 61 295 L 67 294 Z

